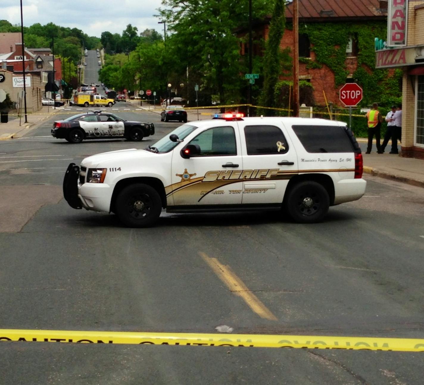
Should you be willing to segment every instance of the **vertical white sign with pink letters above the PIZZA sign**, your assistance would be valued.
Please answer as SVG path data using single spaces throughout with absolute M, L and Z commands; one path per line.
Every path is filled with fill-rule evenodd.
M 408 0 L 388 0 L 387 46 L 406 45 Z

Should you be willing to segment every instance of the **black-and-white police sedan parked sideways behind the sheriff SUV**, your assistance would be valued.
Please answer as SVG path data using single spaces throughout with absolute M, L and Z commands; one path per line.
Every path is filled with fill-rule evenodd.
M 51 134 L 70 143 L 81 143 L 84 139 L 126 138 L 141 141 L 153 135 L 153 123 L 129 121 L 102 111 L 70 116 L 53 123 Z

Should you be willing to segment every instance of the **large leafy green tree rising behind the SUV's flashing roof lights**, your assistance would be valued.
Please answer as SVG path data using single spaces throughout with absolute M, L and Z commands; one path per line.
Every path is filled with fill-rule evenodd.
M 268 3 L 254 1 L 255 18 L 267 13 Z M 240 100 L 245 68 L 240 61 L 240 39 L 234 31 L 241 21 L 248 21 L 248 2 L 162 0 L 162 4 L 166 8 L 159 8 L 159 14 L 168 30 L 175 32 L 172 39 L 167 39 L 166 50 L 173 50 L 179 66 L 189 66 L 191 74 L 202 77 L 202 88 L 218 94 L 221 103 Z

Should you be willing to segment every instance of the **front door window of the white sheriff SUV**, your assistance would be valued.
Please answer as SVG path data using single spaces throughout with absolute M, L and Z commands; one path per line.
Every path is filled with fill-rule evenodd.
M 200 155 L 237 155 L 236 137 L 233 127 L 215 127 L 203 131 L 189 144 L 200 146 Z

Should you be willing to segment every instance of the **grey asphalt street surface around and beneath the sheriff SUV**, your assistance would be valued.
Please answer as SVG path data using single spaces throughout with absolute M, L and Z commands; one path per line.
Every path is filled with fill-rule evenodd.
M 423 338 L 424 190 L 366 177 L 365 197 L 321 224 L 279 213 L 167 214 L 150 229 L 61 199 L 68 163 L 143 148 L 69 144 L 52 120 L 0 142 L 0 325 L 4 329 Z M 78 113 L 75 107 L 65 113 Z M 60 117 L 60 115 L 59 115 Z M 208 259 L 209 258 L 209 259 Z M 228 266 L 273 317 L 261 318 L 207 263 Z M 416 353 L 2 342 L 4 384 L 419 384 Z

